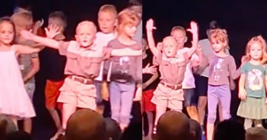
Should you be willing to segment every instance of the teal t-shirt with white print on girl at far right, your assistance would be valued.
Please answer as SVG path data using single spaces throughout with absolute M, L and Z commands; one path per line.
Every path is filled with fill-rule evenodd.
M 241 68 L 241 73 L 246 74 L 245 90 L 248 97 L 262 98 L 265 97 L 265 75 L 267 75 L 267 66 L 252 65 L 246 62 Z

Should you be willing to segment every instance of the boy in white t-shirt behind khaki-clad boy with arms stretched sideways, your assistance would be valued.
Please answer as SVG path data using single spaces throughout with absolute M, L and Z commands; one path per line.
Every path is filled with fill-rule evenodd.
M 100 28 L 100 32 L 96 33 L 96 47 L 100 50 L 103 50 L 103 47 L 108 45 L 108 42 L 115 39 L 115 24 L 117 18 L 117 10 L 115 6 L 106 4 L 100 7 L 98 11 L 98 26 Z M 107 90 L 107 82 L 103 81 L 103 65 L 104 62 L 101 63 L 101 68 L 99 72 L 99 76 L 95 78 L 95 86 L 96 86 L 96 104 L 97 104 L 97 112 L 103 114 L 105 106 L 103 105 L 102 98 L 107 99 L 108 90 Z M 102 94 L 103 93 L 103 97 Z M 105 97 L 106 96 L 106 97 Z

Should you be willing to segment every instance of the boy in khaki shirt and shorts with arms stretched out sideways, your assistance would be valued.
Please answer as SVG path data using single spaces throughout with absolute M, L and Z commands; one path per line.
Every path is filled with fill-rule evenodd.
M 67 57 L 65 74 L 68 75 L 62 87 L 58 102 L 63 103 L 62 127 L 66 129 L 66 123 L 76 108 L 96 109 L 96 88 L 94 79 L 99 75 L 100 65 L 103 60 L 102 51 L 97 49 L 93 41 L 96 34 L 96 26 L 93 22 L 83 21 L 76 27 L 76 41 L 64 42 L 36 36 L 23 30 L 22 36 L 26 39 L 39 42 L 45 46 L 58 49 L 60 55 Z M 50 37 L 60 32 L 56 29 L 46 30 Z M 141 51 L 131 49 L 108 50 L 108 54 L 123 56 L 141 55 Z M 123 54 L 123 55 L 122 55 Z

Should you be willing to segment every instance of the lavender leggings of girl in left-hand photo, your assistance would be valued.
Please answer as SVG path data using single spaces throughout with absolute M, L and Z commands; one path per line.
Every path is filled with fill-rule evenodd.
M 113 120 L 126 125 L 130 123 L 135 89 L 135 83 L 110 82 L 110 106 Z

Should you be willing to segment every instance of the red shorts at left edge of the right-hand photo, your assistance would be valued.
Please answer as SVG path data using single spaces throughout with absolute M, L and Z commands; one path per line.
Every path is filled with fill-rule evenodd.
M 155 111 L 156 105 L 151 102 L 154 90 L 146 90 L 142 94 L 142 108 L 144 111 Z

